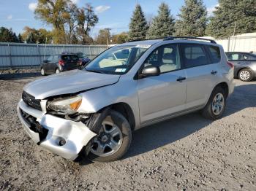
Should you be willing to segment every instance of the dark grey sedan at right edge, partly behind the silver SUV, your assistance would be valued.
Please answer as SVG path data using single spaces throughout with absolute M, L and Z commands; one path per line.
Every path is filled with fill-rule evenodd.
M 256 76 L 256 55 L 249 52 L 226 52 L 234 64 L 234 77 L 249 82 Z

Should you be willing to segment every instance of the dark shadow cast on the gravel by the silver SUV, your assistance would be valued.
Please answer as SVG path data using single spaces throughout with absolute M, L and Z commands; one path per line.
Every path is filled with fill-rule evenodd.
M 245 95 L 246 92 L 246 95 Z M 227 108 L 224 116 L 256 106 L 256 85 L 239 85 L 227 100 Z M 204 119 L 199 112 L 176 117 L 165 122 L 159 122 L 145 128 L 136 130 L 132 134 L 132 144 L 127 152 L 127 157 L 143 154 L 159 147 L 171 144 L 205 128 L 211 124 L 211 120 Z

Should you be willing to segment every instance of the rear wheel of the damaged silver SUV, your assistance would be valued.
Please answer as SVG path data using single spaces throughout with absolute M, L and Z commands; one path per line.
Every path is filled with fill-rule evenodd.
M 220 101 L 217 101 L 220 100 Z M 211 96 L 202 109 L 202 115 L 208 120 L 217 120 L 222 117 L 226 108 L 227 95 L 222 87 L 215 87 L 211 93 Z M 219 112 L 218 112 L 219 108 Z

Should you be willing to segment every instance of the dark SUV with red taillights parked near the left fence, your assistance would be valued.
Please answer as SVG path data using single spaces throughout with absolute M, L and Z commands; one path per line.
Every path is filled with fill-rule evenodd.
M 61 71 L 69 71 L 80 68 L 80 60 L 74 54 L 51 55 L 41 65 L 41 74 L 58 74 Z

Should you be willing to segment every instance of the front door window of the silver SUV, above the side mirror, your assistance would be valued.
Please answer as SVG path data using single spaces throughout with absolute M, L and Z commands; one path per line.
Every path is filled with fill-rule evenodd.
M 167 44 L 158 47 L 146 59 L 144 67 L 146 66 L 157 66 L 161 73 L 181 69 L 178 46 L 176 44 Z

